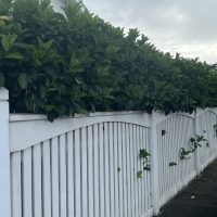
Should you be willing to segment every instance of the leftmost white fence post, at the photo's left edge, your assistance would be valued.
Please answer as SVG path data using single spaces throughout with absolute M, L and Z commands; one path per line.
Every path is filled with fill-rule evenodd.
M 11 217 L 9 91 L 0 88 L 0 216 Z

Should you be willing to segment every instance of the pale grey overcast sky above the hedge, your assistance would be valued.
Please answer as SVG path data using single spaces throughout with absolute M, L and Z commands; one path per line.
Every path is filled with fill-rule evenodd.
M 84 0 L 114 26 L 138 28 L 165 52 L 217 63 L 217 0 Z

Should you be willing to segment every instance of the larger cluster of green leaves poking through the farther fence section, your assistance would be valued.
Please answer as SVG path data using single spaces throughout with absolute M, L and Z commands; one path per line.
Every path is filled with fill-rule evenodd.
M 195 152 L 197 148 L 202 148 L 202 142 L 205 142 L 205 145 L 209 148 L 209 142 L 204 136 L 195 135 L 194 138 L 190 138 L 191 149 L 186 150 L 184 148 L 180 149 L 180 159 L 190 159 L 190 154 Z

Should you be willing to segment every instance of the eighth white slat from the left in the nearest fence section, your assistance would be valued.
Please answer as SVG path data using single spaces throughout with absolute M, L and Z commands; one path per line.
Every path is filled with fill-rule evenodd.
M 80 204 L 80 130 L 75 130 L 75 217 L 81 217 Z

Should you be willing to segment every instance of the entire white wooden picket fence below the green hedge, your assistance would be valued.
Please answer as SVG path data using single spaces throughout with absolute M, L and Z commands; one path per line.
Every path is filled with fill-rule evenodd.
M 217 110 L 95 113 L 50 123 L 9 114 L 0 90 L 0 216 L 151 217 L 217 157 Z M 195 133 L 208 139 L 180 159 Z M 151 171 L 140 150 L 151 153 Z M 170 162 L 177 163 L 169 166 Z

